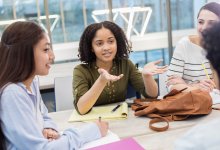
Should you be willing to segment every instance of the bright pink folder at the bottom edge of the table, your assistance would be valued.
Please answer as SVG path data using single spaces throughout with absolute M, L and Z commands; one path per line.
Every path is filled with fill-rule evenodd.
M 109 144 L 89 148 L 88 150 L 144 150 L 133 138 L 127 138 Z

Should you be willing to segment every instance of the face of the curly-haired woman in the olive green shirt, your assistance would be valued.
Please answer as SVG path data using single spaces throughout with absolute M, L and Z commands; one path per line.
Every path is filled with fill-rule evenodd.
M 97 30 L 92 40 L 92 51 L 96 55 L 96 65 L 112 64 L 117 53 L 117 41 L 114 34 L 107 28 Z

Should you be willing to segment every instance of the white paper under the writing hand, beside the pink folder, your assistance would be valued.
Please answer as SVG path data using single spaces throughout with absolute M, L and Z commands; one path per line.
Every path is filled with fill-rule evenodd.
M 80 150 L 85 150 L 85 149 L 88 149 L 88 148 L 96 147 L 96 146 L 103 145 L 103 144 L 112 143 L 112 142 L 119 141 L 119 140 L 120 140 L 120 138 L 118 137 L 118 135 L 116 135 L 112 131 L 108 130 L 108 133 L 105 137 L 102 137 L 98 140 L 86 143 L 85 145 L 83 145 L 83 147 L 80 148 Z

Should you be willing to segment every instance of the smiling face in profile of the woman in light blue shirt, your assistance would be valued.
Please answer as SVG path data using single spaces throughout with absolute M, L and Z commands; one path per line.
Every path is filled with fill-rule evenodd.
M 53 59 L 50 39 L 44 33 L 43 38 L 34 46 L 35 75 L 47 75 Z

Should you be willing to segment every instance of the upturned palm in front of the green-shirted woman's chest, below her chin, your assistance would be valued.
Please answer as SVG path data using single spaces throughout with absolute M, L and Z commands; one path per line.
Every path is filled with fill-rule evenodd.
M 98 69 L 98 72 L 99 72 L 101 78 L 102 78 L 103 80 L 106 80 L 108 83 L 109 83 L 109 82 L 118 81 L 118 80 L 120 80 L 120 79 L 124 76 L 123 74 L 120 74 L 120 75 L 118 75 L 118 76 L 116 76 L 116 75 L 111 75 L 111 74 L 108 73 L 108 71 L 106 71 L 105 69 L 102 69 L 102 68 L 99 68 L 99 69 Z

